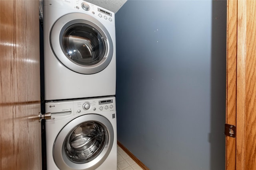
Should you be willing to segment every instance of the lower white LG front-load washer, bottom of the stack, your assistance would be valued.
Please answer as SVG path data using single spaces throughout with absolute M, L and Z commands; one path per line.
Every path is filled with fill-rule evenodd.
M 115 97 L 47 102 L 48 170 L 116 170 Z

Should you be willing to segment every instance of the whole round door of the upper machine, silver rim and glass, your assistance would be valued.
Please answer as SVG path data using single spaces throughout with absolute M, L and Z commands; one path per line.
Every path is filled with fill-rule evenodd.
M 62 64 L 81 74 L 102 71 L 113 56 L 107 29 L 87 14 L 71 13 L 59 18 L 50 33 L 50 45 Z

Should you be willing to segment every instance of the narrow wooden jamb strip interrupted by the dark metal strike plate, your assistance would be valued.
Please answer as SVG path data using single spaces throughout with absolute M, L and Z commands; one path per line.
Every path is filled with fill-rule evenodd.
M 226 123 L 236 125 L 237 1 L 227 2 Z M 226 170 L 236 168 L 236 139 L 226 137 Z

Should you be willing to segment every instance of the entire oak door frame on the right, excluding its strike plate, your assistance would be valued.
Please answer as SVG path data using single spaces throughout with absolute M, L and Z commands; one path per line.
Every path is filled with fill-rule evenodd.
M 256 1 L 228 0 L 226 170 L 256 169 Z

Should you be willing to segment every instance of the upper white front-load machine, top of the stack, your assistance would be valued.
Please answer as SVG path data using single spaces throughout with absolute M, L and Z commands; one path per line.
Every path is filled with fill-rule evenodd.
M 116 94 L 114 13 L 84 0 L 44 0 L 45 100 Z

